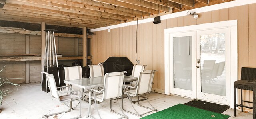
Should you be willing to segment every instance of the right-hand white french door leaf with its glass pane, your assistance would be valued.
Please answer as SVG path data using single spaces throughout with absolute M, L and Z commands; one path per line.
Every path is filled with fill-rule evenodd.
M 230 29 L 197 31 L 197 97 L 216 103 L 229 104 L 227 85 L 230 84 Z

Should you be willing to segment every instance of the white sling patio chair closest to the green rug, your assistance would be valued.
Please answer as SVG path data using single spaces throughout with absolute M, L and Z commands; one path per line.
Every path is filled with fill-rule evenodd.
M 140 76 L 138 78 L 138 84 L 136 84 L 136 86 L 127 86 L 127 85 L 124 86 L 125 90 L 124 90 L 123 93 L 126 94 L 126 96 L 128 96 L 128 99 L 131 102 L 132 108 L 134 109 L 135 113 L 133 113 L 131 111 L 124 110 L 124 107 L 123 107 L 123 96 L 122 96 L 122 109 L 125 112 L 131 113 L 133 115 L 137 115 L 138 117 L 142 117 L 142 115 L 144 115 L 146 113 L 150 113 L 152 111 L 157 111 L 157 109 L 155 109 L 149 103 L 148 98 L 146 96 L 146 94 L 149 94 L 151 92 L 151 88 L 152 88 L 152 84 L 153 84 L 153 78 L 154 78 L 154 73 L 156 71 L 157 70 L 144 70 L 144 71 L 140 71 Z M 129 88 L 135 88 L 135 89 L 129 90 Z M 130 96 L 131 97 L 135 97 L 135 96 L 141 96 L 141 95 L 145 96 L 146 100 L 148 101 L 149 105 L 151 106 L 151 108 L 150 108 L 150 107 L 146 107 L 146 106 L 140 105 L 140 100 L 139 100 L 139 97 L 138 97 L 138 106 L 144 107 L 146 109 L 150 109 L 150 111 L 148 111 L 146 113 L 143 113 L 143 114 L 139 114 L 136 111 L 136 109 L 133 106 L 133 102 L 130 100 Z

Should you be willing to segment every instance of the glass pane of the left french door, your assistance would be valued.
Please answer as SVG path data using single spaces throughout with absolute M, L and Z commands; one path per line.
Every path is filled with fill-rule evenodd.
M 174 88 L 192 90 L 192 36 L 174 37 Z

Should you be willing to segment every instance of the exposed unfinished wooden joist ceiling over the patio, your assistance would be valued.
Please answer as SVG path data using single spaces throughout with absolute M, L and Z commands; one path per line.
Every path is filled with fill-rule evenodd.
M 233 0 L 0 0 L 0 20 L 89 29 Z

